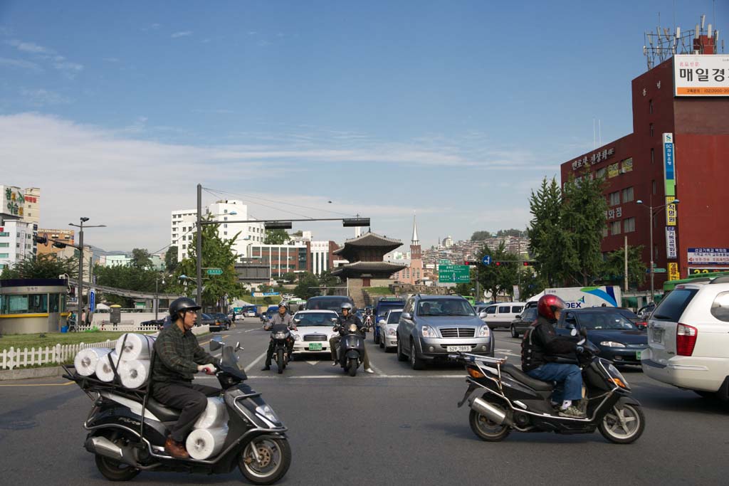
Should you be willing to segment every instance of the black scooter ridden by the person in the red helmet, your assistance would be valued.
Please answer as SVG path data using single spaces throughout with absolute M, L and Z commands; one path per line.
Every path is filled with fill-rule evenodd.
M 592 434 L 596 428 L 605 439 L 616 444 L 635 442 L 643 433 L 645 418 L 639 401 L 631 396 L 628 381 L 599 348 L 587 340 L 583 328 L 577 345 L 583 352 L 577 359 L 561 358 L 582 369 L 582 400 L 577 405 L 585 418 L 562 417 L 550 403 L 553 383 L 530 377 L 506 363 L 506 358 L 491 358 L 470 353 L 449 357 L 464 364 L 468 389 L 458 406 L 468 401 L 469 424 L 480 439 L 498 442 L 510 431 Z M 576 335 L 577 332 L 573 332 Z M 481 396 L 469 398 L 474 391 Z

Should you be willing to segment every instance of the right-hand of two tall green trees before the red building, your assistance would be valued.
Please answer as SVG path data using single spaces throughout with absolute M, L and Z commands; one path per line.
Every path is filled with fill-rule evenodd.
M 561 207 L 561 225 L 569 232 L 574 251 L 569 269 L 584 286 L 592 283 L 603 267 L 600 245 L 607 211 L 607 201 L 602 194 L 605 178 L 590 176 L 588 169 L 579 179 L 570 176 L 564 185 Z

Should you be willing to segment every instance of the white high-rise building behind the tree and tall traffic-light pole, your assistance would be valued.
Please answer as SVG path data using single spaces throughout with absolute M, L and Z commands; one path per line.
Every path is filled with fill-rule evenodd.
M 241 221 L 254 219 L 249 217 L 248 206 L 239 200 L 219 200 L 203 208 L 203 218 L 210 217 L 220 222 L 218 235 L 224 240 L 233 238 L 238 232 L 238 238 L 233 245 L 241 258 L 248 256 L 248 246 L 252 243 L 262 244 L 266 238 L 262 223 L 228 223 L 228 221 Z M 172 211 L 170 243 L 177 247 L 177 261 L 190 256 L 190 248 L 195 248 L 195 225 L 198 213 L 194 209 Z

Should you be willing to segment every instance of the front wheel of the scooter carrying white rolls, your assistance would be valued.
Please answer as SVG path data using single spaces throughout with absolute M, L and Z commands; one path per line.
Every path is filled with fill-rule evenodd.
M 259 460 L 253 453 L 258 452 Z M 260 437 L 246 445 L 238 457 L 238 469 L 254 485 L 272 485 L 291 466 L 291 447 L 284 438 Z

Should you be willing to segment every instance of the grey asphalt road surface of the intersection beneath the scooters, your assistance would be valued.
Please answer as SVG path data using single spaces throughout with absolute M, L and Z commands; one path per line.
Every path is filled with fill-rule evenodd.
M 468 426 L 459 367 L 416 372 L 368 341 L 375 375 L 348 377 L 322 361 L 297 360 L 278 375 L 260 372 L 268 333 L 249 319 L 230 332 L 240 340 L 249 383 L 289 427 L 293 463 L 280 484 L 398 485 L 725 484 L 729 409 L 692 392 L 661 385 L 629 370 L 647 428 L 623 446 L 599 434 L 512 434 L 481 442 Z M 203 341 L 206 339 L 203 338 Z M 496 332 L 496 353 L 518 363 L 518 340 Z M 216 383 L 212 377 L 202 383 Z M 0 386 L 2 484 L 104 485 L 82 444 L 90 402 L 63 379 Z M 239 484 L 222 476 L 141 473 L 139 485 Z

